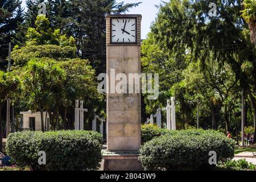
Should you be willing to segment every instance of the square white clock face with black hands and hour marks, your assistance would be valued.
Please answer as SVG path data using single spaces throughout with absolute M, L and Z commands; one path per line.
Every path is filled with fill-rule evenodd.
M 112 18 L 111 20 L 112 43 L 136 43 L 135 18 Z

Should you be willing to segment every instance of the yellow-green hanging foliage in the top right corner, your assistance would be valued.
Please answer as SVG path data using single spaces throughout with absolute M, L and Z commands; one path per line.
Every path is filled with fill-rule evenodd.
M 256 19 L 256 1 L 255 0 L 245 0 L 243 1 L 244 9 L 241 11 L 242 17 L 246 22 L 250 22 Z

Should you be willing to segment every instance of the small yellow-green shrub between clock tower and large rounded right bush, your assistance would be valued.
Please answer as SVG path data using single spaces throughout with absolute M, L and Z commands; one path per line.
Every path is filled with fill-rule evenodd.
M 169 133 L 170 130 L 167 129 L 160 129 L 156 125 L 148 124 L 141 126 L 141 140 L 142 143 L 147 142 L 154 137 L 160 137 L 163 134 Z

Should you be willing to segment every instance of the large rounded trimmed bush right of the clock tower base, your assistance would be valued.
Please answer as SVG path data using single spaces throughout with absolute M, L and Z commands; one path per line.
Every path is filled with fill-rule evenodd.
M 216 151 L 217 160 L 225 162 L 234 156 L 235 143 L 214 130 L 180 130 L 155 137 L 143 144 L 139 160 L 148 170 L 207 169 L 209 151 Z

